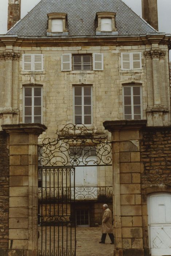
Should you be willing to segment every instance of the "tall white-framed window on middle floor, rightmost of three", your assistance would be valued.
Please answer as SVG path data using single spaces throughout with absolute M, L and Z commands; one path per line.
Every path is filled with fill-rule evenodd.
M 142 119 L 141 86 L 123 86 L 124 119 Z

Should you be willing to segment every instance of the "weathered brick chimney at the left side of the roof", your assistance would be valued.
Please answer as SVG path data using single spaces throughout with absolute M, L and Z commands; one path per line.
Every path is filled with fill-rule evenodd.
M 21 14 L 21 0 L 8 0 L 8 25 L 7 29 L 11 29 L 18 20 Z

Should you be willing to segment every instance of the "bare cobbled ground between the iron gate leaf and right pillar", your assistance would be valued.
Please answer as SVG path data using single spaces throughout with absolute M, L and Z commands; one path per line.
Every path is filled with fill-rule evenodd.
M 107 235 L 105 244 L 101 240 L 101 227 L 77 227 L 77 256 L 113 256 L 114 246 Z

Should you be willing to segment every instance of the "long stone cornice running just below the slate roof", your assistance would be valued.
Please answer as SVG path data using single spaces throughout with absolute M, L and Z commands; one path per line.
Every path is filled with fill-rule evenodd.
M 3 35 L 0 37 L 0 46 L 100 46 L 100 45 L 146 45 L 146 44 L 169 44 L 169 35 L 111 35 L 111 36 L 51 36 L 51 37 L 18 37 L 17 35 Z

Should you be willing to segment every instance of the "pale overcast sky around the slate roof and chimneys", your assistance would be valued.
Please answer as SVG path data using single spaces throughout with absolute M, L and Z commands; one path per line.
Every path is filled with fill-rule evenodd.
M 82 0 L 80 0 L 82 1 Z M 141 15 L 141 0 L 122 0 L 137 15 Z M 151 0 L 152 1 L 152 0 Z M 21 18 L 40 0 L 21 0 Z M 0 34 L 7 32 L 8 0 L 0 0 Z M 159 31 L 171 34 L 171 0 L 158 0 Z

